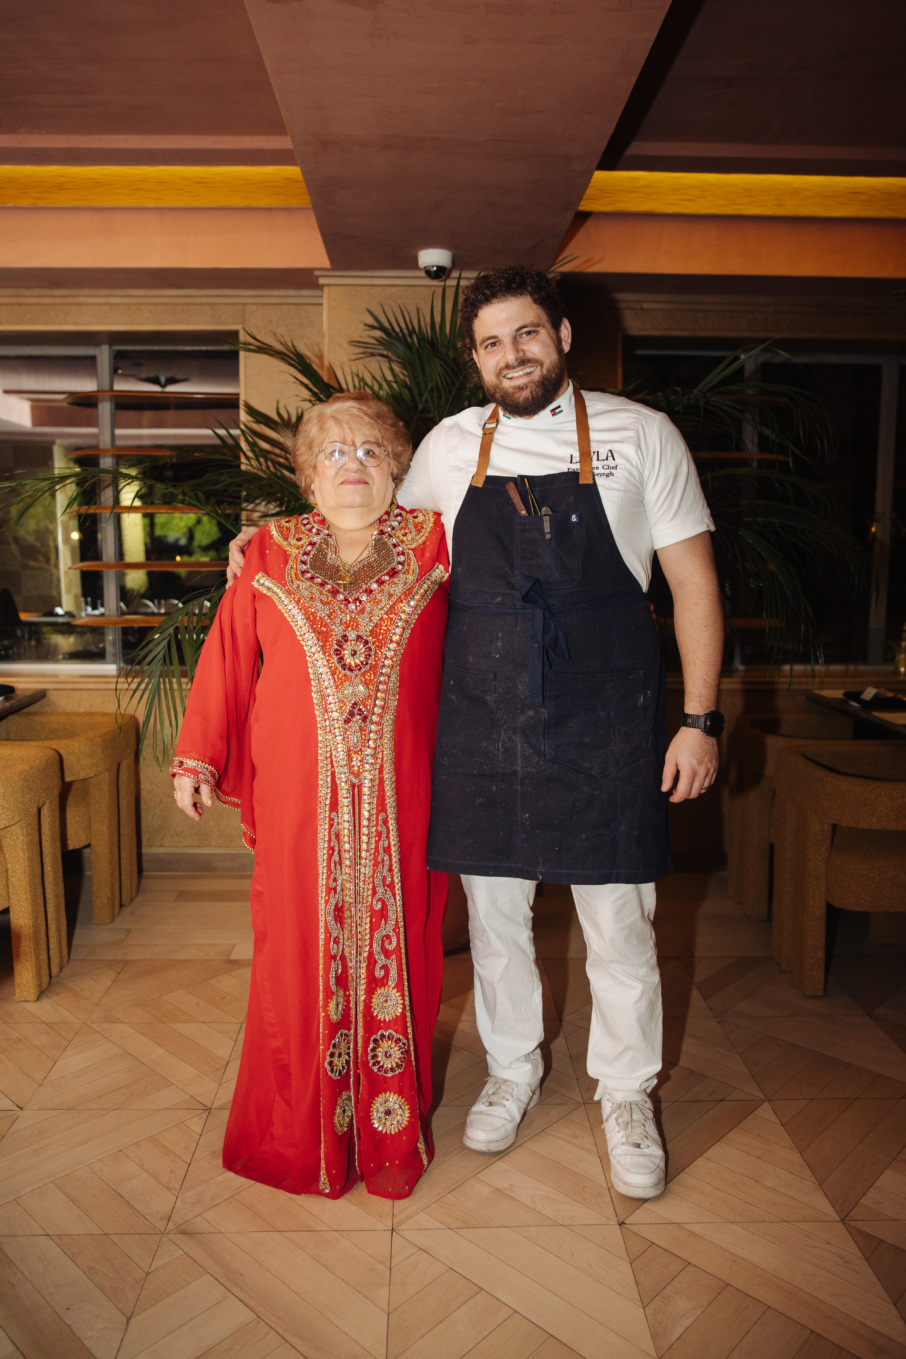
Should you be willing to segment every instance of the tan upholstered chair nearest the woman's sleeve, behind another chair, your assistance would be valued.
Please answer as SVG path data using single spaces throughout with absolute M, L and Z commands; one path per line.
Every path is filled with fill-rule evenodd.
M 27 741 L 60 754 L 62 847 L 91 845 L 95 924 L 114 920 L 139 890 L 137 739 L 136 718 L 113 712 L 16 712 L 0 723 L 0 742 Z

